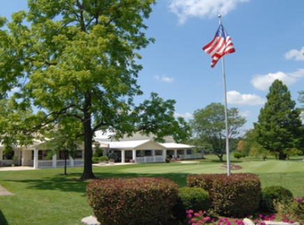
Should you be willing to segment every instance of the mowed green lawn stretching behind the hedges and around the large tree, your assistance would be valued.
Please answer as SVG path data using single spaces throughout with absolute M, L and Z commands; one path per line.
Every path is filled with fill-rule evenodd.
M 167 177 L 186 187 L 189 174 L 226 173 L 215 156 L 195 160 L 191 164 L 132 164 L 125 166 L 94 166 L 96 177 Z M 246 158 L 247 159 L 247 158 Z M 294 196 L 304 196 L 304 161 L 275 159 L 244 159 L 231 157 L 231 164 L 242 166 L 231 173 L 256 173 L 262 187 L 281 185 L 290 189 Z M 86 186 L 89 181 L 79 181 L 82 168 L 63 168 L 1 171 L 0 184 L 13 192 L 13 196 L 0 196 L 1 225 L 73 225 L 92 215 L 87 203 Z M 115 212 L 113 212 L 115 213 Z

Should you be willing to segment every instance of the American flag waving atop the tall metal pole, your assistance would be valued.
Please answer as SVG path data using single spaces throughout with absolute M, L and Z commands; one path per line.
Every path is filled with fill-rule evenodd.
M 223 55 L 236 52 L 231 38 L 222 24 L 219 24 L 215 38 L 213 38 L 208 45 L 205 45 L 203 50 L 212 57 L 212 68 L 215 67 L 215 64 L 217 64 L 217 61 L 219 61 Z

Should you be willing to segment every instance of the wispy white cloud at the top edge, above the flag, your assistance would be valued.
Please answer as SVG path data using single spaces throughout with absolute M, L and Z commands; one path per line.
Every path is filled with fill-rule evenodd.
M 226 15 L 244 1 L 249 0 L 169 0 L 168 7 L 178 15 L 180 24 L 184 24 L 189 17 Z

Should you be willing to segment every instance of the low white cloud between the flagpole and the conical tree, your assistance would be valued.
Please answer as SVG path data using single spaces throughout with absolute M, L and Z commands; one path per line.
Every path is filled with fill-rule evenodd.
M 240 94 L 240 92 L 236 91 L 227 92 L 227 103 L 229 104 L 256 106 L 263 105 L 265 101 L 265 99 L 256 94 Z

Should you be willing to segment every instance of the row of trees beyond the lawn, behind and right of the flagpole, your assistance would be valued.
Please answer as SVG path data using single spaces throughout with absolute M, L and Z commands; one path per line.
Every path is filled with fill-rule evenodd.
M 299 92 L 298 100 L 304 103 L 304 92 Z M 240 129 L 246 120 L 237 108 L 228 109 L 230 150 L 241 155 L 276 159 L 289 159 L 296 154 L 304 154 L 303 108 L 296 108 L 296 102 L 286 85 L 275 80 L 269 88 L 267 101 L 261 108 L 254 128 L 241 135 Z M 301 117 L 302 116 L 302 117 Z M 194 112 L 190 121 L 194 138 L 189 143 L 201 146 L 205 151 L 217 154 L 223 161 L 226 152 L 226 127 L 224 105 L 211 103 Z M 240 157 L 238 154 L 238 157 Z

